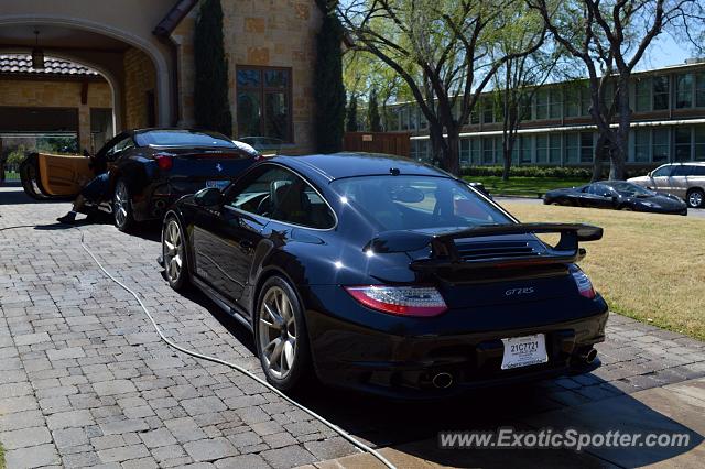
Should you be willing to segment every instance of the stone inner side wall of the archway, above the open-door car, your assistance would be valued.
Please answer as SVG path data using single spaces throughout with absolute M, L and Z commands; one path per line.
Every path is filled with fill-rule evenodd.
M 149 116 L 148 94 L 155 94 L 156 72 L 150 57 L 131 47 L 124 53 L 124 128 L 139 129 L 154 124 Z M 154 109 L 159 103 L 154 98 Z

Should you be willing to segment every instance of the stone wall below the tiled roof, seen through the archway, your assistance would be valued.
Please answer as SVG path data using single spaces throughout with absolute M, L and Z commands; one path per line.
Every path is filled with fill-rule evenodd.
M 0 106 L 78 109 L 80 149 L 90 150 L 90 108 L 112 108 L 112 91 L 106 81 L 89 81 L 87 102 L 80 102 L 80 81 L 0 80 Z

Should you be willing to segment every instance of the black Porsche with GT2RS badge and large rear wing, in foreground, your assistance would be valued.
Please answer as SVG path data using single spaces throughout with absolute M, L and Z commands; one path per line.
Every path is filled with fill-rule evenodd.
M 425 399 L 596 367 L 607 305 L 576 262 L 601 234 L 406 159 L 276 156 L 176 201 L 161 263 L 252 331 L 276 388 Z

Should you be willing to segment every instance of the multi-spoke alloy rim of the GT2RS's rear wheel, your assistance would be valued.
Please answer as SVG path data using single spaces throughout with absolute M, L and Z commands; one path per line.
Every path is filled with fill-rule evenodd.
M 286 378 L 296 359 L 296 320 L 286 293 L 279 286 L 269 288 L 262 298 L 258 330 L 267 371 L 276 379 Z

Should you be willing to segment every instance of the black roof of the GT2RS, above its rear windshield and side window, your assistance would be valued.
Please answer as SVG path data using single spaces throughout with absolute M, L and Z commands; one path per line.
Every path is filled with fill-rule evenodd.
M 399 170 L 400 175 L 453 177 L 442 170 L 404 156 L 378 153 L 340 152 L 301 156 L 274 156 L 271 161 L 289 165 L 295 170 L 306 172 L 313 170 L 328 181 L 390 174 L 392 170 Z

